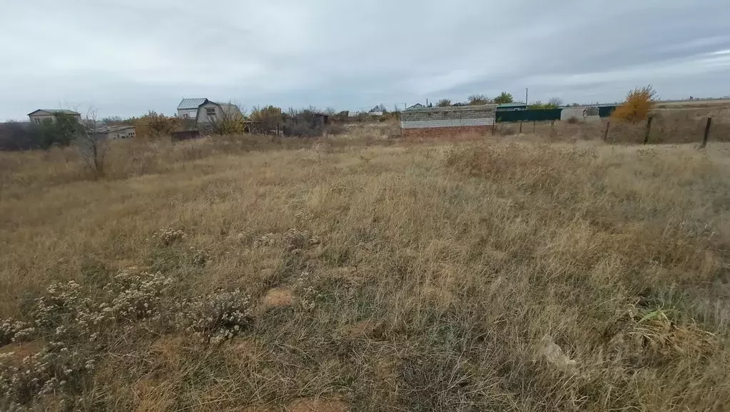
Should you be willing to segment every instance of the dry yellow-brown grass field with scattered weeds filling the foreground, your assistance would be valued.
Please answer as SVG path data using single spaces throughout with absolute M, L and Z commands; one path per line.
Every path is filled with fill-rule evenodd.
M 0 410 L 727 410 L 730 145 L 504 140 L 0 153 Z

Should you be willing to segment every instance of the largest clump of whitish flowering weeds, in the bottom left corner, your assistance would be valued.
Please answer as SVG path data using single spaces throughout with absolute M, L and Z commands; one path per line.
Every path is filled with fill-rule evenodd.
M 135 330 L 183 329 L 218 343 L 252 322 L 250 295 L 240 289 L 179 300 L 171 293 L 176 286 L 175 278 L 160 272 L 121 272 L 95 294 L 74 281 L 48 286 L 29 321 L 0 323 L 3 345 L 46 342 L 20 365 L 0 362 L 0 400 L 27 403 L 36 395 L 80 389 L 103 351 Z

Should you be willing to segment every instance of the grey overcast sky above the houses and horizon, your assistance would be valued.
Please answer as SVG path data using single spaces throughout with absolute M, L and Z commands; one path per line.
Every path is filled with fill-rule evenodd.
M 0 120 L 730 94 L 729 0 L 2 0 Z

